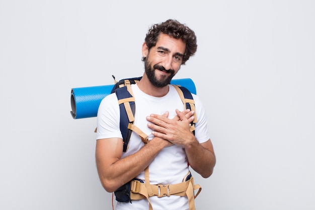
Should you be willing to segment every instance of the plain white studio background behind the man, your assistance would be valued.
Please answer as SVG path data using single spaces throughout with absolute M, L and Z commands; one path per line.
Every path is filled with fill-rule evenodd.
M 314 1 L 0 0 L 0 209 L 111 209 L 96 118 L 71 88 L 143 74 L 153 23 L 198 38 L 176 79 L 203 100 L 217 157 L 197 209 L 315 209 Z

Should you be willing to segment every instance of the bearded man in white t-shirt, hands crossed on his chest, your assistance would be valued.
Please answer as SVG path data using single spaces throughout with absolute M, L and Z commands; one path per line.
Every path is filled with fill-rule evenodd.
M 167 186 L 167 191 L 163 191 L 167 196 L 153 195 L 118 202 L 117 210 L 194 208 L 188 195 L 172 195 L 169 186 L 185 181 L 189 166 L 204 178 L 213 172 L 215 155 L 201 101 L 193 95 L 196 113 L 183 110 L 177 91 L 169 85 L 181 65 L 196 52 L 196 42 L 195 33 L 176 20 L 152 25 L 146 34 L 142 45 L 145 71 L 142 79 L 131 87 L 136 104 L 134 124 L 148 135 L 147 144 L 132 133 L 128 150 L 123 152 L 116 95 L 108 95 L 100 104 L 96 162 L 105 190 L 113 192 L 134 178 L 146 180 L 142 187 L 145 192 L 152 188 L 159 189 L 160 193 L 165 190 L 163 186 Z M 190 131 L 194 114 L 198 120 L 195 135 Z

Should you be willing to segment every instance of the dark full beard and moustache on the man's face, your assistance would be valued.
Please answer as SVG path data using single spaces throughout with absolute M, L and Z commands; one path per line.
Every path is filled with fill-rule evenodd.
M 161 79 L 157 79 L 155 77 L 155 69 L 158 69 L 159 71 L 166 71 L 166 69 L 162 65 L 153 65 L 153 68 L 151 67 L 151 63 L 147 61 L 147 59 L 144 61 L 144 71 L 149 79 L 150 83 L 156 87 L 156 88 L 163 88 L 171 83 L 172 78 L 175 76 L 175 71 L 173 69 L 169 69 L 168 72 L 170 73 L 169 76 L 162 75 Z

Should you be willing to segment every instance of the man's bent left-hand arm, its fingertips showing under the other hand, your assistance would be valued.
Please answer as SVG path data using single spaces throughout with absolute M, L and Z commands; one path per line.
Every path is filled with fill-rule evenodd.
M 192 121 L 194 114 L 190 110 L 181 112 L 188 121 Z M 168 113 L 163 115 L 168 117 Z M 173 118 L 180 120 L 178 116 Z M 153 161 L 160 151 L 173 143 L 153 137 L 138 152 L 121 158 L 123 141 L 121 138 L 98 139 L 96 143 L 96 164 L 101 183 L 106 191 L 113 192 L 118 187 L 136 177 Z

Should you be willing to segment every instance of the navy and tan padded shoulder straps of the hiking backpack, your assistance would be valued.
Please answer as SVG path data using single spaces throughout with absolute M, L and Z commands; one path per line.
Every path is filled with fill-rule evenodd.
M 112 76 L 115 80 L 115 77 Z M 111 93 L 116 93 L 119 109 L 120 109 L 120 130 L 123 137 L 123 152 L 128 150 L 128 143 L 131 136 L 132 131 L 136 132 L 142 142 L 145 144 L 148 142 L 147 135 L 143 133 L 138 127 L 133 125 L 134 122 L 134 114 L 135 114 L 135 100 L 133 97 L 133 93 L 131 90 L 131 84 L 136 84 L 141 80 L 142 77 L 137 78 L 129 78 L 129 79 L 122 79 L 114 85 Z M 186 109 L 194 110 L 195 111 L 195 104 L 194 99 L 191 92 L 182 86 L 173 85 L 179 96 L 182 99 L 184 107 Z M 190 131 L 195 134 L 195 123 L 197 122 L 196 114 L 194 121 L 191 122 Z

